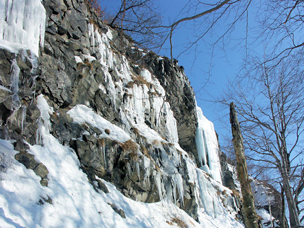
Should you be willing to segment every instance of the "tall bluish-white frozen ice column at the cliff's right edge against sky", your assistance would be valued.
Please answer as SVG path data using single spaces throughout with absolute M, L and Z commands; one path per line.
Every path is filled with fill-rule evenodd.
M 218 157 L 218 144 L 213 123 L 207 120 L 203 111 L 197 106 L 198 127 L 196 132 L 196 145 L 199 161 L 203 170 L 209 173 L 213 179 L 221 182 L 221 169 Z M 207 163 L 208 161 L 208 163 Z

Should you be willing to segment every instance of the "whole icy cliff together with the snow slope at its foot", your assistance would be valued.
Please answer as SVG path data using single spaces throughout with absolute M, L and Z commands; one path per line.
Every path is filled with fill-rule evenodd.
M 242 227 L 183 70 L 94 21 L 82 0 L 17 2 L 0 11 L 18 38 L 0 49 L 3 224 Z

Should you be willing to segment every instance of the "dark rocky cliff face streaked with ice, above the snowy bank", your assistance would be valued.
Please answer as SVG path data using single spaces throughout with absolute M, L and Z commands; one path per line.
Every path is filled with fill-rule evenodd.
M 40 6 L 25 1 L 25 9 L 32 2 Z M 99 178 L 133 200 L 167 198 L 195 219 L 200 208 L 212 216 L 237 213 L 232 192 L 195 165 L 197 109 L 182 67 L 136 48 L 99 21 L 83 0 L 42 4 L 45 33 L 40 17 L 40 35 L 32 39 L 44 43 L 32 48 L 7 38 L 0 49 L 0 137 L 15 140 L 20 151 L 15 158 L 48 186 L 48 167 L 27 145 L 43 145 L 48 129 L 73 149 L 89 181 L 105 192 Z M 3 27 L 15 29 L 6 20 Z M 30 37 L 31 31 L 22 29 Z

